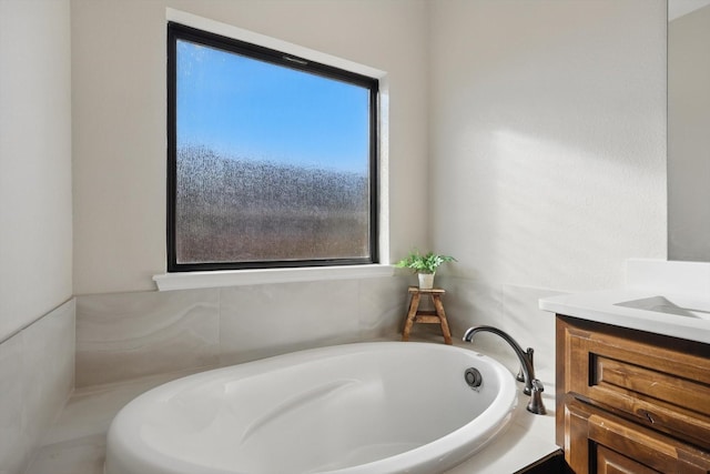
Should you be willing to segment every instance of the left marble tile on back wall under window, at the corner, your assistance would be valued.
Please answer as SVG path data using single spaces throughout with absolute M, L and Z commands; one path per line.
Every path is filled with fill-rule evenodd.
M 217 365 L 220 292 L 77 296 L 77 387 Z

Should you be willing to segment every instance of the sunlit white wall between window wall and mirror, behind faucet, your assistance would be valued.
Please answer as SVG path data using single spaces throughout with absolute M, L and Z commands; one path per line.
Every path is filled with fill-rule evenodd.
M 539 296 L 666 256 L 665 22 L 662 0 L 433 3 L 433 241 L 459 259 L 455 329 L 518 323 L 551 345 Z

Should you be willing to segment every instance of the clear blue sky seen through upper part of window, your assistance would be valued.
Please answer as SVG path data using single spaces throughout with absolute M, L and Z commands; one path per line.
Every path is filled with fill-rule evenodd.
M 369 91 L 178 41 L 178 145 L 367 173 Z

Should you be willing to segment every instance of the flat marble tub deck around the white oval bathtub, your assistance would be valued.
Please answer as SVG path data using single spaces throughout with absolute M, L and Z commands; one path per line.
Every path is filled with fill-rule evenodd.
M 412 341 L 437 343 L 440 339 L 442 335 L 434 331 L 418 331 L 416 336 L 412 336 Z M 456 339 L 454 344 L 470 347 Z M 77 390 L 45 434 L 26 474 L 103 474 L 105 434 L 119 410 L 146 390 L 194 372 L 199 371 Z M 554 375 L 539 375 L 546 387 L 544 400 L 548 414 L 528 413 L 525 410 L 528 397 L 519 393 L 518 406 L 507 430 L 474 457 L 446 474 L 515 473 L 558 450 L 554 442 L 555 387 L 552 380 L 548 380 Z

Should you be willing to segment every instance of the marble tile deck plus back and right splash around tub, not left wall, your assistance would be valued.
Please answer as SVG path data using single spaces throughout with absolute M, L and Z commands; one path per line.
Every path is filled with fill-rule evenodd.
M 45 433 L 24 474 L 101 474 L 105 432 L 115 413 L 145 390 L 205 366 L 318 345 L 398 340 L 413 283 L 402 276 L 79 296 L 77 371 L 84 386 Z M 521 401 L 505 436 L 450 474 L 514 472 L 556 450 L 554 315 L 538 310 L 538 299 L 558 293 L 489 288 L 470 279 L 443 276 L 439 283 L 447 289 L 455 344 L 468 346 L 460 341 L 468 326 L 493 324 L 535 346 L 550 411 L 532 416 Z M 440 343 L 442 336 L 438 326 L 424 324 L 415 326 L 412 340 Z M 495 336 L 480 334 L 474 349 L 517 371 L 513 352 Z

